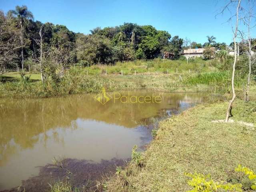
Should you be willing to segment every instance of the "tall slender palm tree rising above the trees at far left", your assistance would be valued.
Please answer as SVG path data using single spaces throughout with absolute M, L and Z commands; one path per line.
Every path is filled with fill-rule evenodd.
M 20 26 L 20 42 L 21 42 L 21 65 L 22 65 L 22 72 L 23 70 L 23 63 L 24 63 L 24 55 L 23 55 L 23 36 L 24 36 L 24 23 L 28 21 L 29 19 L 34 19 L 34 16 L 31 11 L 28 10 L 28 7 L 26 5 L 16 6 L 15 10 L 10 10 L 8 12 L 9 16 L 16 16 L 19 21 Z

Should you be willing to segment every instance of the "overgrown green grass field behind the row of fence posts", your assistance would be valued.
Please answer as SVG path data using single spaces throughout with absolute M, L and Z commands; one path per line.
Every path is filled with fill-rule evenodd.
M 218 64 L 217 60 L 202 60 L 201 58 L 196 58 L 195 60 L 190 60 L 188 63 L 186 60 L 135 60 L 129 62 L 116 62 L 116 65 L 92 65 L 89 67 L 82 68 L 84 74 L 88 71 L 88 74 L 121 74 L 132 75 L 145 74 L 145 73 L 198 73 L 198 72 L 210 72 L 216 71 L 216 66 Z M 79 68 L 79 66 L 77 66 Z

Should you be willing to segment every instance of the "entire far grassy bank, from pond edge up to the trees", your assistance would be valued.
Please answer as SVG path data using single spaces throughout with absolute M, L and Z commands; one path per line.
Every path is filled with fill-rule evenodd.
M 146 88 L 154 91 L 231 92 L 231 72 L 218 70 L 218 64 L 217 60 L 205 61 L 197 58 L 188 64 L 184 60 L 163 62 L 155 59 L 117 62 L 115 66 L 95 65 L 85 68 L 75 66 L 67 70 L 63 78 L 57 81 L 48 78 L 44 85 L 40 82 L 40 74 L 27 73 L 26 78 L 23 79 L 19 73 L 12 72 L 0 77 L 0 97 L 66 96 L 99 92 L 102 87 L 108 91 Z M 245 85 L 246 76 L 237 70 L 236 89 L 242 93 Z M 255 87 L 255 80 L 252 80 L 251 87 L 252 89 Z

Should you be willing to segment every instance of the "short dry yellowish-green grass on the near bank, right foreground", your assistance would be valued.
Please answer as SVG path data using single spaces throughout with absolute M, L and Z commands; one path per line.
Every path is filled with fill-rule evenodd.
M 256 171 L 256 131 L 238 123 L 213 123 L 224 119 L 227 102 L 201 104 L 160 123 L 156 138 L 141 156 L 107 183 L 110 192 L 186 191 L 188 173 L 211 174 L 214 181 L 242 183 L 234 172 L 238 164 Z M 256 102 L 236 100 L 234 120 L 256 124 Z M 139 163 L 138 163 L 139 162 Z

